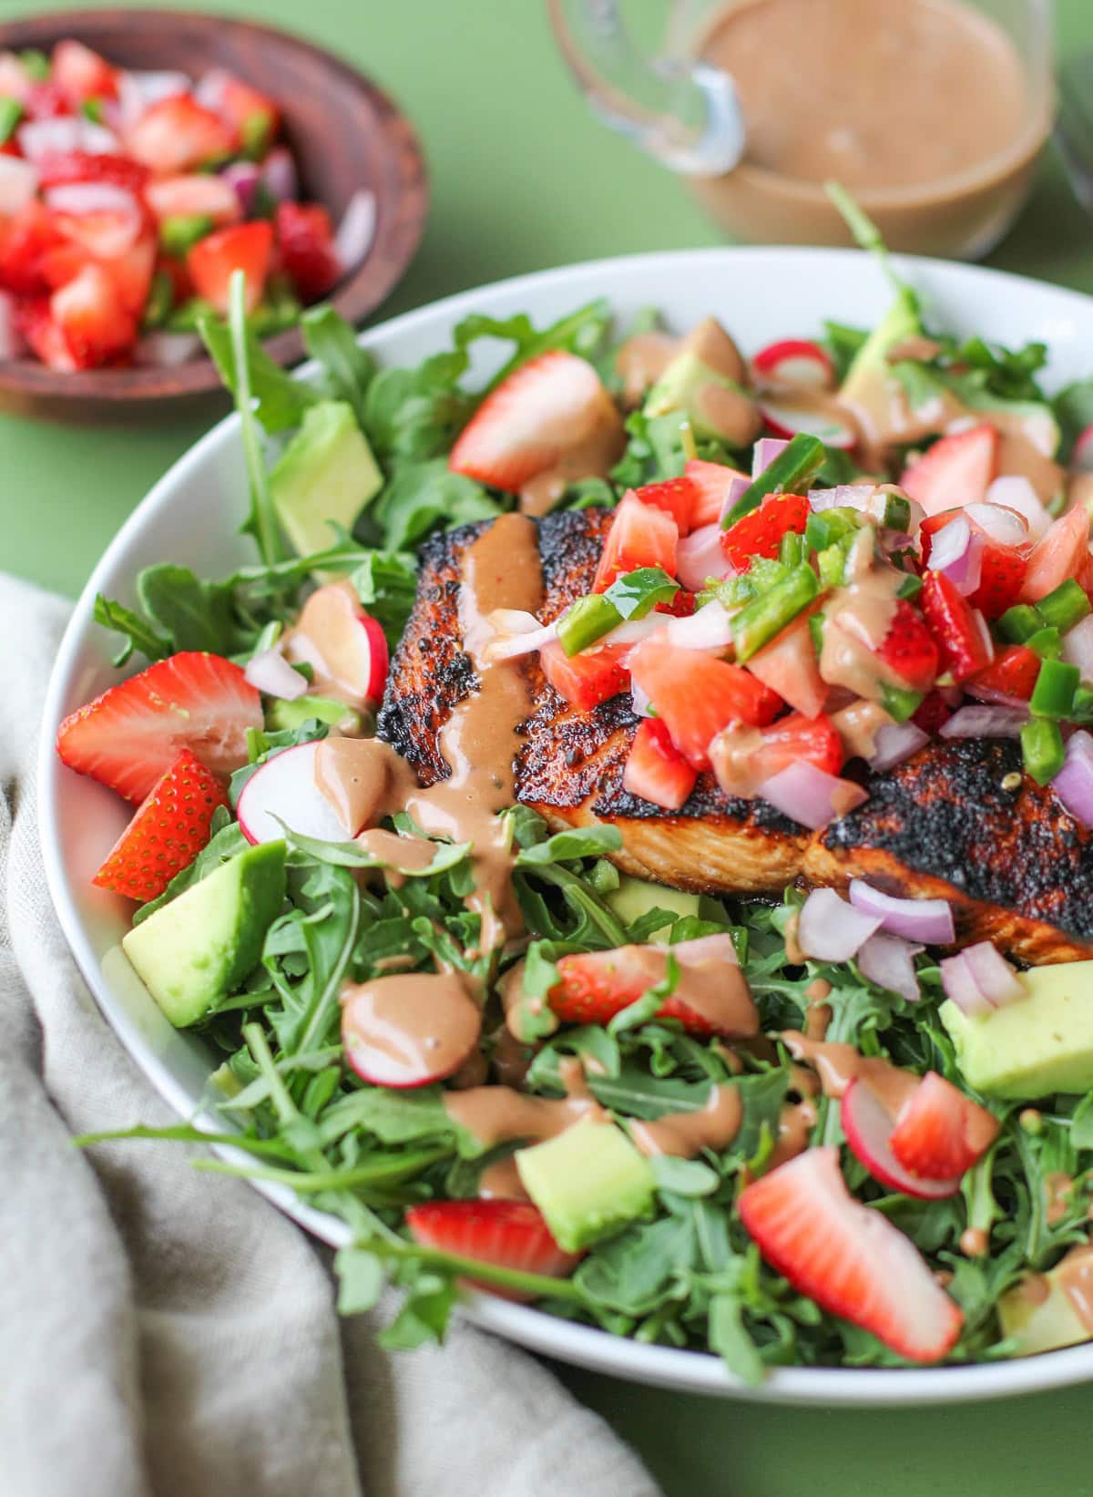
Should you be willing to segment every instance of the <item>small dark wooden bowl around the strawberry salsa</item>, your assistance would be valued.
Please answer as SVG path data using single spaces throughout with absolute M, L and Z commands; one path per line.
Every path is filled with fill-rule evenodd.
M 174 10 L 67 10 L 0 25 L 0 51 L 48 51 L 73 36 L 111 63 L 172 67 L 195 79 L 226 67 L 277 100 L 302 193 L 337 223 L 358 187 L 376 195 L 376 237 L 364 262 L 334 290 L 334 305 L 359 322 L 409 266 L 425 226 L 425 162 L 409 120 L 370 79 L 310 42 L 265 25 Z M 302 353 L 295 331 L 265 344 L 280 364 Z M 124 421 L 153 401 L 205 397 L 220 388 L 210 359 L 177 368 L 85 370 L 63 374 L 34 359 L 0 362 L 0 409 L 63 421 Z

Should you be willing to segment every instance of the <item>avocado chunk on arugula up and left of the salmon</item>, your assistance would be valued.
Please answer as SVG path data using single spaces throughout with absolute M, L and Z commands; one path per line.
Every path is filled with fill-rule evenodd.
M 383 487 L 376 458 L 352 406 L 308 406 L 299 431 L 270 473 L 277 516 L 299 555 L 334 543 L 329 521 L 344 530 Z

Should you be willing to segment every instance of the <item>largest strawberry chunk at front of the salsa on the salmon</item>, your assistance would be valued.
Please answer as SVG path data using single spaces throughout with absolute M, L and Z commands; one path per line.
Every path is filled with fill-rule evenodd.
M 773 722 L 782 705 L 774 692 L 741 666 L 659 639 L 638 645 L 630 656 L 630 674 L 695 769 L 710 768 L 710 744 L 729 723 L 761 728 Z

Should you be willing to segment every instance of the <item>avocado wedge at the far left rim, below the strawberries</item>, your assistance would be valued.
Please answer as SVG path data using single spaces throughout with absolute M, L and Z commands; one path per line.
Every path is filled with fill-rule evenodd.
M 284 900 L 284 843 L 231 858 L 123 937 L 144 985 L 177 1028 L 243 982 Z

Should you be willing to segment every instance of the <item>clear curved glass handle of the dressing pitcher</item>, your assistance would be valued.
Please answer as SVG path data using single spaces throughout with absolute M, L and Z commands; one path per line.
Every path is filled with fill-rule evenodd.
M 596 114 L 665 166 L 731 171 L 744 153 L 732 78 L 707 63 L 642 57 L 617 0 L 546 0 L 570 72 Z

